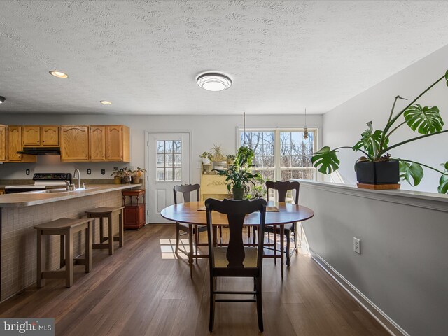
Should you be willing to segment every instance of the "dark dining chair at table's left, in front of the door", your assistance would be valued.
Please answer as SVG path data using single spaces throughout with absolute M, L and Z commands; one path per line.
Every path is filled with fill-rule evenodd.
M 173 194 L 174 194 L 174 204 L 178 204 L 177 202 L 177 193 L 182 193 L 183 195 L 183 202 L 190 202 L 191 200 L 191 193 L 193 191 L 196 191 L 196 200 L 199 201 L 199 190 L 201 186 L 199 184 L 184 184 L 181 186 L 174 186 L 173 188 Z M 185 249 L 179 248 L 179 241 L 181 238 L 180 231 L 185 232 L 188 235 L 188 246 L 189 251 L 187 252 Z M 188 265 L 190 265 L 190 277 L 193 278 L 193 258 L 196 256 L 196 263 L 197 263 L 197 246 L 199 245 L 199 234 L 200 232 L 207 231 L 206 225 L 188 225 L 185 223 L 179 223 L 176 222 L 176 251 L 175 253 L 178 254 L 178 251 L 181 251 L 182 253 L 186 254 L 188 256 Z M 184 235 L 185 235 L 184 233 Z M 195 237 L 195 253 L 193 253 L 193 236 Z

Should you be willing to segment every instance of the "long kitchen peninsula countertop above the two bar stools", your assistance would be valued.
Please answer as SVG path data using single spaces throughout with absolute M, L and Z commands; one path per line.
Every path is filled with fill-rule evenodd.
M 30 192 L 0 195 L 0 208 L 29 207 L 31 205 L 69 200 L 116 190 L 139 189 L 141 186 L 141 184 L 96 184 L 87 186 L 87 189 L 64 191 L 62 193 Z

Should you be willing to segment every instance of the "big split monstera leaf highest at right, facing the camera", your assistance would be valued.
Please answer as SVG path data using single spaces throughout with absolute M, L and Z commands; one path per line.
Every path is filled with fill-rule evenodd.
M 443 128 L 443 120 L 437 106 L 421 107 L 420 104 L 410 106 L 405 113 L 406 123 L 413 131 L 420 134 L 440 132 Z

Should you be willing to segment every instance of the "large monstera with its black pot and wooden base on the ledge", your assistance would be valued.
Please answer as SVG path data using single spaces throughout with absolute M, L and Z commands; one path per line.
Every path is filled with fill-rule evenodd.
M 311 158 L 314 167 L 323 174 L 331 174 L 339 169 L 338 150 L 351 148 L 353 151 L 363 153 L 363 156 L 357 160 L 355 165 L 358 187 L 360 188 L 400 188 L 398 184 L 400 179 L 409 182 L 411 186 L 417 186 L 423 178 L 423 167 L 426 167 L 442 174 L 437 191 L 439 193 L 448 193 L 448 161 L 441 164 L 442 169 L 436 169 L 407 158 L 391 157 L 387 153 L 391 149 L 409 142 L 448 132 L 448 130 L 443 130 L 444 122 L 437 106 L 415 104 L 423 94 L 442 80 L 448 85 L 448 71 L 412 100 L 404 109 L 394 114 L 397 100 L 405 99 L 400 96 L 395 97 L 391 113 L 383 130 L 374 130 L 372 122 L 367 123 L 367 130 L 361 134 L 360 141 L 354 146 L 343 146 L 334 149 L 325 146 L 314 153 Z M 403 125 L 407 125 L 412 131 L 418 132 L 420 135 L 400 141 L 398 144 L 390 144 L 390 137 L 393 132 Z

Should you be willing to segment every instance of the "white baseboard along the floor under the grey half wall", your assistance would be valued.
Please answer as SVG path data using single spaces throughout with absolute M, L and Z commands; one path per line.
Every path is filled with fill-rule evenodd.
M 381 311 L 379 307 L 377 307 L 372 301 L 369 300 L 363 293 L 358 290 L 355 286 L 353 286 L 347 279 L 344 278 L 336 269 L 334 269 L 328 262 L 323 260 L 320 255 L 315 253 L 312 249 L 310 249 L 311 258 L 319 266 L 321 266 L 325 272 L 330 274 L 330 276 L 339 283 L 347 293 L 349 293 L 353 299 L 358 301 L 358 303 L 370 314 L 372 317 L 377 320 L 386 330 L 394 336 L 409 336 L 409 334 L 403 330 L 400 325 L 395 323 L 389 316 L 387 316 L 384 311 Z

